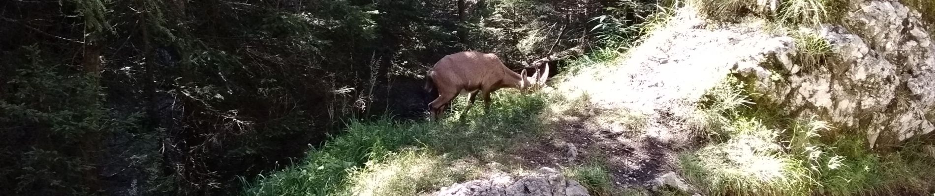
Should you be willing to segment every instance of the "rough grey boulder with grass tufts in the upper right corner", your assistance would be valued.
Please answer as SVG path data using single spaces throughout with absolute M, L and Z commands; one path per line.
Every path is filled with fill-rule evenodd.
M 810 67 L 795 60 L 807 54 L 789 49 L 741 73 L 770 100 L 760 102 L 866 131 L 871 147 L 932 132 L 935 45 L 920 14 L 896 1 L 852 4 L 845 26 L 813 30 L 832 46 L 827 63 Z

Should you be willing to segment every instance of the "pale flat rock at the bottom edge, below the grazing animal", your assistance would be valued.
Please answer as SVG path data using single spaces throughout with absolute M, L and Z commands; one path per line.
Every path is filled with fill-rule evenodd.
M 587 196 L 587 189 L 552 168 L 514 178 L 499 173 L 489 179 L 471 180 L 441 188 L 437 196 Z

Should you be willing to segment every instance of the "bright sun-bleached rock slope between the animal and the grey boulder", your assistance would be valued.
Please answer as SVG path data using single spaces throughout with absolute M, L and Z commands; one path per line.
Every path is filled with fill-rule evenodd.
M 642 132 L 672 144 L 686 144 L 684 122 L 695 116 L 705 92 L 731 69 L 757 67 L 764 54 L 792 49 L 789 37 L 762 31 L 764 21 L 714 27 L 691 7 L 680 9 L 668 26 L 654 31 L 612 70 L 581 72 L 558 90 L 586 94 L 593 107 L 647 117 Z M 628 114 L 633 115 L 633 114 Z M 615 128 L 609 128 L 615 130 Z

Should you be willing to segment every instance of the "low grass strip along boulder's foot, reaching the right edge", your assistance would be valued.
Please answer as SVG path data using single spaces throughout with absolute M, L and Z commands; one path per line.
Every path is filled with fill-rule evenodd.
M 821 139 L 830 126 L 814 119 L 798 121 L 788 134 L 751 120 L 734 126 L 741 131 L 726 142 L 680 156 L 686 176 L 709 194 L 917 195 L 935 189 L 935 159 L 917 149 L 881 155 L 867 149 L 864 137 Z

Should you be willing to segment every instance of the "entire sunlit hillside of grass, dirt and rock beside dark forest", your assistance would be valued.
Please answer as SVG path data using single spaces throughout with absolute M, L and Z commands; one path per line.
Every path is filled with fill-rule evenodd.
M 935 157 L 927 154 L 935 148 L 926 136 L 935 116 L 930 28 L 895 1 L 846 7 L 842 20 L 818 24 L 747 15 L 715 21 L 704 5 L 662 11 L 638 46 L 576 59 L 538 93 L 505 90 L 491 111 L 454 110 L 441 124 L 355 122 L 248 192 L 935 191 Z M 467 122 L 455 121 L 463 115 Z M 900 137 L 882 143 L 880 136 Z

